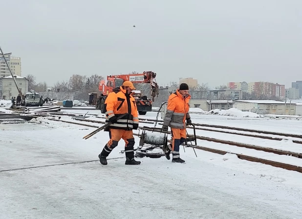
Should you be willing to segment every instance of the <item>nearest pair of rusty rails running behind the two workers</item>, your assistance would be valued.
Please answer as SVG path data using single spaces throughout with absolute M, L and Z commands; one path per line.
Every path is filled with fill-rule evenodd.
M 58 120 L 58 119 L 53 119 L 53 118 L 47 118 L 47 119 L 51 120 L 51 121 L 65 122 L 65 123 L 70 123 L 70 124 L 75 124 L 75 125 L 80 125 L 80 126 L 86 126 L 86 127 L 91 127 L 91 128 L 99 128 L 99 126 L 83 124 L 83 123 L 78 123 L 78 122 Z M 105 123 L 105 122 L 102 122 L 102 121 L 94 121 L 94 122 L 95 123 L 101 123 L 101 124 Z M 155 128 L 155 129 L 153 129 L 151 127 L 139 127 L 139 128 L 144 128 L 146 130 L 152 130 L 152 131 L 155 131 L 155 132 L 160 132 L 160 128 Z M 138 135 L 136 133 L 133 133 L 133 134 Z M 168 134 L 170 134 L 170 133 L 168 133 Z M 253 145 L 246 145 L 246 144 L 242 144 L 242 143 L 205 138 L 205 137 L 202 137 L 202 136 L 196 136 L 196 138 L 200 139 L 200 140 L 213 141 L 213 142 L 228 144 L 228 145 L 233 144 L 234 146 L 247 147 L 247 148 L 250 148 L 250 149 L 256 149 L 257 148 L 256 150 L 262 150 L 262 151 L 265 151 L 265 152 L 272 152 L 272 153 L 276 153 L 276 154 L 280 154 L 280 155 L 292 155 L 292 156 L 295 156 L 295 157 L 298 157 L 298 158 L 302 158 L 302 154 L 295 153 L 295 152 L 290 152 L 290 151 L 282 151 L 282 150 L 277 150 L 277 149 L 272 149 L 272 148 L 264 148 L 264 147 L 253 146 Z M 266 160 L 266 159 L 262 159 L 262 158 L 258 158 L 258 157 L 248 156 L 248 155 L 239 154 L 239 153 L 233 153 L 233 152 L 224 151 L 224 150 L 217 150 L 217 149 L 210 148 L 210 147 L 196 146 L 195 148 L 200 149 L 200 150 L 204 150 L 204 151 L 209 151 L 209 152 L 221 154 L 221 155 L 231 153 L 231 154 L 237 155 L 237 157 L 241 160 L 247 160 L 247 161 L 257 162 L 257 163 L 262 163 L 262 164 L 268 164 L 268 165 L 272 165 L 272 166 L 275 166 L 275 167 L 280 167 L 280 168 L 287 169 L 287 170 L 294 170 L 294 171 L 298 171 L 298 172 L 302 173 L 302 166 L 280 163 L 280 162 L 276 162 L 276 161 Z

